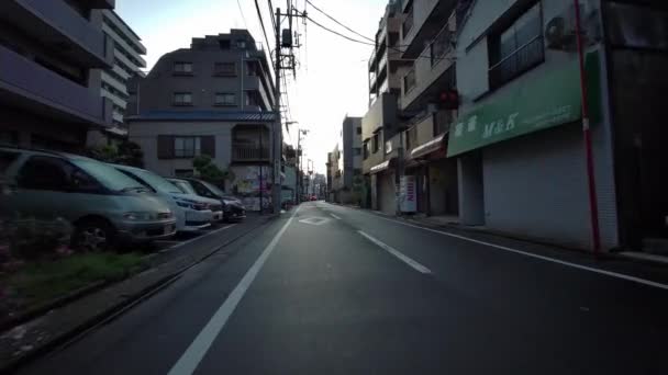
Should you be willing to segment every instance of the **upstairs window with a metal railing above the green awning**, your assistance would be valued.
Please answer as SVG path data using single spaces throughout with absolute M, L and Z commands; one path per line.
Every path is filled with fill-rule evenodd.
M 536 3 L 508 29 L 489 37 L 491 89 L 532 69 L 545 59 L 541 3 Z

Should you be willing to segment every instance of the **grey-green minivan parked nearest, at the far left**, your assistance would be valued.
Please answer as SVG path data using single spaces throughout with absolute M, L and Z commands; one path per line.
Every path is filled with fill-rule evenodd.
M 0 215 L 62 217 L 75 228 L 75 248 L 103 251 L 176 231 L 174 212 L 164 200 L 105 163 L 11 147 L 0 147 Z

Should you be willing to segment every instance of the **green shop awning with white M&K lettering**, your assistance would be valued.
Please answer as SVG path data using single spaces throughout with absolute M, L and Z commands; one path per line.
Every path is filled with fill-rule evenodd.
M 599 117 L 599 58 L 588 56 L 592 117 Z M 456 156 L 504 139 L 568 124 L 581 117 L 580 75 L 577 60 L 566 67 L 516 84 L 512 91 L 492 96 L 453 125 L 447 156 Z

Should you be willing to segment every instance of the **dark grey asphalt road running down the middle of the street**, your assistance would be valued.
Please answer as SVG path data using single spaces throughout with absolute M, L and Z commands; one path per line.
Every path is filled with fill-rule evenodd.
M 303 204 L 22 373 L 668 374 L 660 275 L 458 236 Z

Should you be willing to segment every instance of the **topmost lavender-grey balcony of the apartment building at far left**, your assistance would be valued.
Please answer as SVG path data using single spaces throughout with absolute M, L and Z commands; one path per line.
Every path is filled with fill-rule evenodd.
M 3 0 L 0 19 L 88 68 L 111 68 L 113 42 L 65 1 Z

